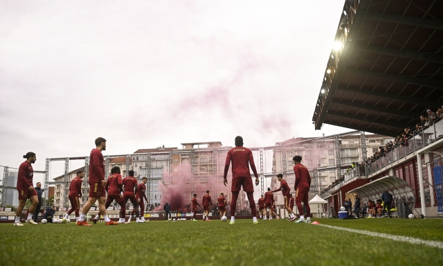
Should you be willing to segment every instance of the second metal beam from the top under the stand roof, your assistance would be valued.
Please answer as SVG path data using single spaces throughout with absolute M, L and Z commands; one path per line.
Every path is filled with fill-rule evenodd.
M 403 58 L 409 58 L 413 60 L 421 60 L 426 62 L 433 62 L 437 64 L 443 64 L 443 56 L 441 55 L 433 55 L 429 53 L 415 53 L 411 51 L 406 50 L 398 50 L 398 49 L 391 49 L 391 48 L 381 48 L 381 47 L 374 47 L 374 46 L 357 46 L 354 45 L 354 49 L 357 49 L 359 51 L 368 52 L 368 53 L 379 53 L 382 55 L 392 55 L 396 57 L 403 57 Z

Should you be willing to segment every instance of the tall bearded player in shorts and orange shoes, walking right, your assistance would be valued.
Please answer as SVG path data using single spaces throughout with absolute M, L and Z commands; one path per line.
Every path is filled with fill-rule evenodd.
M 84 217 L 91 209 L 91 206 L 98 200 L 98 209 L 103 214 L 106 224 L 114 224 L 111 219 L 108 218 L 105 208 L 105 159 L 103 159 L 102 150 L 106 150 L 106 139 L 99 137 L 96 139 L 96 148 L 91 150 L 89 154 L 89 198 L 82 209 L 82 214 L 77 221 L 77 225 L 90 227 L 92 224 L 88 224 Z

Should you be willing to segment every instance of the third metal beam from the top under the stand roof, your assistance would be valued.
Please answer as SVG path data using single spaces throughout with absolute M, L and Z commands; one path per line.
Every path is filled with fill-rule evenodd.
M 440 80 L 425 80 L 424 78 L 410 78 L 405 76 L 398 76 L 393 74 L 385 74 L 375 71 L 366 71 L 361 69 L 354 69 L 354 67 L 346 67 L 345 72 L 353 73 L 362 76 L 372 76 L 374 78 L 382 78 L 385 80 L 394 80 L 398 82 L 405 82 L 410 84 L 415 84 L 424 87 L 431 87 L 436 89 L 443 89 L 443 82 Z

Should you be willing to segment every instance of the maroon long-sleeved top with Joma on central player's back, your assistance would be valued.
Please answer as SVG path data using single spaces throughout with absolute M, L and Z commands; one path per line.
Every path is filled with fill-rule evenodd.
M 233 179 L 237 177 L 251 177 L 249 165 L 251 165 L 254 176 L 258 177 L 257 169 L 255 169 L 254 157 L 252 156 L 251 150 L 248 148 L 235 147 L 228 151 L 228 154 L 226 155 L 226 163 L 224 164 L 224 178 L 228 176 L 230 161 L 233 162 Z

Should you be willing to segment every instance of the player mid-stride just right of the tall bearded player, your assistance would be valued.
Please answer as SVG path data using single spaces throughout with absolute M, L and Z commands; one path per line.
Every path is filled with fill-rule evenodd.
M 108 193 L 108 197 L 106 198 L 105 208 L 108 209 L 111 206 L 111 203 L 114 200 L 120 205 L 120 220 L 118 222 L 112 221 L 111 223 L 106 223 L 107 225 L 117 225 L 117 224 L 127 224 L 125 221 L 125 213 L 126 213 L 126 204 L 123 201 L 122 194 L 123 193 L 123 180 L 120 175 L 120 167 L 114 166 L 111 169 L 111 176 L 108 177 L 108 181 L 106 182 L 105 190 Z M 94 218 L 94 223 L 97 222 L 98 218 L 100 218 L 100 212 Z

